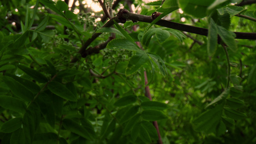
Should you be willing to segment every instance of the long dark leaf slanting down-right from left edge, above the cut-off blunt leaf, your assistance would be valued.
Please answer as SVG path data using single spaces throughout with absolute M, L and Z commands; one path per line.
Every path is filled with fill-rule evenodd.
M 3 82 L 11 89 L 15 96 L 23 99 L 24 101 L 31 101 L 34 99 L 33 93 L 24 85 L 20 84 L 9 76 L 2 76 L 1 78 Z

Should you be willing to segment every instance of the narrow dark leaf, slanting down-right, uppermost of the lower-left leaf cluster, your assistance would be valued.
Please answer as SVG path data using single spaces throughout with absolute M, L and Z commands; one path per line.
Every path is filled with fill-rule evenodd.
M 42 73 L 37 72 L 34 69 L 25 67 L 23 65 L 17 65 L 19 69 L 21 69 L 23 72 L 25 72 L 27 75 L 29 75 L 31 78 L 35 79 L 39 83 L 47 83 L 48 79 L 45 77 Z

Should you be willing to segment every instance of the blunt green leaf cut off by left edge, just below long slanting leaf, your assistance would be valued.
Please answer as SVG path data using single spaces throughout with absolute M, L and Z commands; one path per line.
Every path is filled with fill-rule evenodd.
M 0 106 L 21 113 L 26 110 L 26 104 L 22 100 L 10 96 L 0 96 Z

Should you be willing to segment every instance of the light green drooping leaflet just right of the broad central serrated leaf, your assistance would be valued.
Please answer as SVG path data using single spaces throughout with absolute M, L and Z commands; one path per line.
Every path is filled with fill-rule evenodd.
M 157 66 L 158 66 L 160 72 L 162 73 L 162 75 L 166 76 L 167 68 L 164 64 L 165 62 L 157 54 L 154 54 L 154 53 L 151 53 L 151 52 L 147 52 L 146 54 L 151 58 L 151 60 L 153 60 L 157 64 Z

